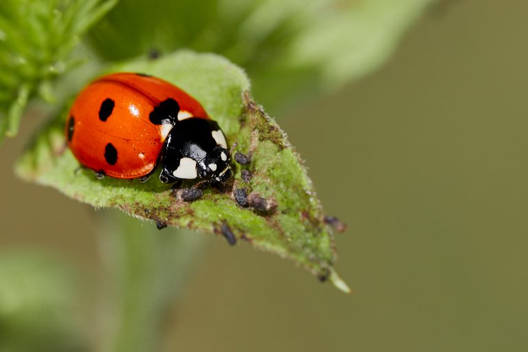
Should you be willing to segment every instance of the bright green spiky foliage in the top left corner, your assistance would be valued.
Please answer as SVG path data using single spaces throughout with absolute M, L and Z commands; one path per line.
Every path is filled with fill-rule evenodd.
M 0 140 L 17 135 L 30 98 L 53 100 L 50 83 L 72 66 L 79 36 L 115 2 L 0 1 Z

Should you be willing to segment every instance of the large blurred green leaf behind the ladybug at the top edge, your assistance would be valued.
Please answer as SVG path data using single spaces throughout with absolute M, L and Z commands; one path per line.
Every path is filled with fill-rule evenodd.
M 272 113 L 379 67 L 433 0 L 121 1 L 89 32 L 107 60 L 182 47 L 247 70 Z

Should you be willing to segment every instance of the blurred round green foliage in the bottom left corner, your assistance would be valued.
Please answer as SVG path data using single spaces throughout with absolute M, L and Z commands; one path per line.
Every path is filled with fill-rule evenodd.
M 74 274 L 41 252 L 0 252 L 0 351 L 88 351 Z

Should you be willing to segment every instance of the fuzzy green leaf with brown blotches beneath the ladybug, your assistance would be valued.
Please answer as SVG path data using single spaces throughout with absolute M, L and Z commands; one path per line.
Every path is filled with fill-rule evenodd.
M 231 146 L 238 144 L 237 151 L 252 155 L 252 162 L 233 164 L 232 185 L 222 191 L 208 188 L 203 199 L 187 203 L 174 197 L 157 177 L 144 184 L 109 177 L 100 180 L 93 171 L 79 169 L 65 148 L 63 113 L 36 137 L 19 161 L 21 177 L 58 188 L 96 208 L 120 208 L 167 225 L 206 233 L 220 233 L 228 225 L 237 239 L 293 259 L 347 291 L 333 269 L 333 234 L 323 221 L 303 163 L 276 122 L 250 98 L 250 83 L 241 69 L 216 55 L 177 52 L 110 71 L 144 72 L 182 87 L 219 122 Z M 242 179 L 243 170 L 252 174 L 249 181 Z M 242 208 L 234 200 L 232 191 L 241 188 L 254 199 L 254 208 Z M 261 207 L 256 205 L 259 200 Z

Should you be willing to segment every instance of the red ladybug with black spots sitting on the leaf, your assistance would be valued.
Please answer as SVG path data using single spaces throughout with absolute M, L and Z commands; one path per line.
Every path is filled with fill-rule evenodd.
M 222 183 L 230 153 L 217 122 L 185 91 L 145 74 L 109 74 L 77 96 L 66 122 L 67 143 L 100 177 Z

